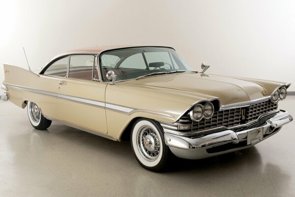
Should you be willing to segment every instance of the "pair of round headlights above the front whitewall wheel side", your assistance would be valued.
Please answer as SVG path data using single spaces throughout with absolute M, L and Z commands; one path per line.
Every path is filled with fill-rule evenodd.
M 197 104 L 191 111 L 189 112 L 190 118 L 193 121 L 199 122 L 202 118 L 210 119 L 212 118 L 214 113 L 214 106 L 211 102 L 207 102 L 205 105 Z

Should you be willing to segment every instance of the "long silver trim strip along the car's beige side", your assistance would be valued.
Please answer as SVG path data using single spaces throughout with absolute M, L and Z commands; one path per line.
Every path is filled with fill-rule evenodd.
M 72 97 L 72 96 L 68 96 L 68 95 L 62 95 L 62 94 L 57 94 L 57 93 L 53 93 L 53 92 L 37 90 L 37 89 L 33 89 L 33 88 L 17 86 L 17 85 L 12 85 L 12 84 L 6 84 L 6 86 L 14 88 L 14 89 L 29 91 L 29 92 L 36 93 L 36 94 L 46 95 L 49 97 L 55 97 L 58 99 L 66 99 L 66 100 L 75 101 L 75 102 L 79 102 L 79 103 L 89 104 L 89 105 L 93 105 L 96 107 L 101 107 L 104 109 L 109 109 L 109 110 L 118 111 L 120 113 L 125 113 L 127 115 L 130 115 L 130 114 L 133 114 L 136 112 L 144 112 L 144 113 L 155 114 L 155 115 L 159 115 L 159 116 L 165 116 L 168 118 L 174 118 L 174 116 L 169 115 L 169 114 L 165 114 L 165 113 L 149 111 L 149 110 L 144 110 L 144 109 L 134 109 L 134 108 L 126 107 L 126 106 L 116 105 L 113 103 L 105 103 L 102 101 L 83 99 L 83 98 L 79 98 L 79 97 Z

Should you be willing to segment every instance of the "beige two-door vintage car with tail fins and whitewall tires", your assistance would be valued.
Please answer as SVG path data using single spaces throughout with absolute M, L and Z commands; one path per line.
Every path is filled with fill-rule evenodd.
M 290 83 L 206 74 L 171 47 L 96 47 L 53 58 L 39 72 L 4 65 L 3 100 L 27 107 L 37 130 L 52 121 L 131 141 L 143 167 L 171 152 L 202 159 L 249 148 L 293 120 L 278 109 Z

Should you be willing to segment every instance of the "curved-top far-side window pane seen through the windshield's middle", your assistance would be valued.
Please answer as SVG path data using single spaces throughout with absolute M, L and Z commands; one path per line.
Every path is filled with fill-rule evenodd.
M 143 55 L 141 53 L 137 53 L 126 58 L 126 60 L 120 64 L 119 68 L 147 69 L 147 66 Z

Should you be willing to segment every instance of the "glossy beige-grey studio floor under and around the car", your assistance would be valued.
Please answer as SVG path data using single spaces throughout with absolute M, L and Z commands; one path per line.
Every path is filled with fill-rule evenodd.
M 280 108 L 295 115 L 295 96 Z M 190 161 L 165 173 L 142 168 L 129 142 L 53 123 L 29 124 L 26 110 L 0 102 L 0 197 L 295 197 L 295 121 L 247 150 Z

